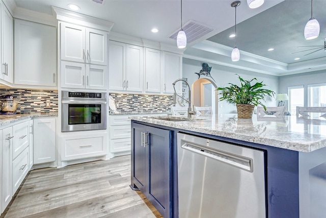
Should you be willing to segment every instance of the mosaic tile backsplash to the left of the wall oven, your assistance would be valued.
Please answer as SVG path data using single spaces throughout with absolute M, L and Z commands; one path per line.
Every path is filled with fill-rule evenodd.
M 58 113 L 58 90 L 0 89 L 0 96 L 6 94 L 20 99 L 16 113 Z M 46 102 L 50 107 L 46 107 Z

